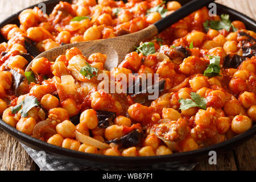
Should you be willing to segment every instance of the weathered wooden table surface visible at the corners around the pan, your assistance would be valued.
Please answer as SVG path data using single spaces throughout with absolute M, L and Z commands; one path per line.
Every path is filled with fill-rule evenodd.
M 0 1 L 0 21 L 42 0 Z M 256 19 L 256 0 L 218 0 L 218 3 Z M 256 137 L 251 138 L 233 151 L 217 154 L 217 165 L 201 161 L 193 170 L 256 170 Z M 0 129 L 0 171 L 36 170 L 36 164 L 20 144 Z

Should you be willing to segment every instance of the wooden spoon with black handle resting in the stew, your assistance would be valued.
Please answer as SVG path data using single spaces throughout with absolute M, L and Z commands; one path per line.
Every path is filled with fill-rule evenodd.
M 142 42 L 142 40 L 154 37 L 159 32 L 170 27 L 180 19 L 185 18 L 185 16 L 188 16 L 189 14 L 202 8 L 205 5 L 208 5 L 211 2 L 214 2 L 214 0 L 193 0 L 180 9 L 174 11 L 174 13 L 159 20 L 155 24 L 152 24 L 151 26 L 148 26 L 147 28 L 144 28 L 143 30 L 133 34 L 118 36 L 116 38 L 67 44 L 45 51 L 36 56 L 35 59 L 39 57 L 46 57 L 46 59 L 49 61 L 55 61 L 59 55 L 65 55 L 65 51 L 67 49 L 77 47 L 81 50 L 84 56 L 90 56 L 92 53 L 96 52 L 107 55 L 108 59 L 105 63 L 105 69 L 110 71 L 111 69 L 117 67 L 117 65 L 121 63 L 123 59 L 125 59 L 126 54 L 133 51 L 134 46 L 137 47 L 139 43 Z M 27 72 L 31 70 L 33 61 L 28 64 L 26 68 Z

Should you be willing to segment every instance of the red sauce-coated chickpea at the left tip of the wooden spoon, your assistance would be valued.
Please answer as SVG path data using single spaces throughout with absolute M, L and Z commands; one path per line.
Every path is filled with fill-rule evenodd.
M 47 73 L 50 69 L 49 61 L 44 57 L 34 59 L 31 65 L 31 69 L 34 73 L 48 75 Z

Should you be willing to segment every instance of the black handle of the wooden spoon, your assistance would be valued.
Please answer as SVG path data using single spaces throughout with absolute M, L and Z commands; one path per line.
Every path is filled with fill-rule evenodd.
M 178 22 L 180 19 L 185 18 L 194 11 L 199 10 L 212 2 L 214 2 L 214 0 L 193 0 L 182 6 L 180 9 L 174 11 L 174 13 L 160 19 L 158 22 L 154 23 L 154 26 L 158 29 L 158 32 L 161 32 L 172 24 Z

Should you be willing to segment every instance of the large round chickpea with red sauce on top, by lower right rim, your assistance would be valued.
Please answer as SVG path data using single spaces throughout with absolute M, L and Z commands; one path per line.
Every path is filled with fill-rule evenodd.
M 231 129 L 236 134 L 241 134 L 247 130 L 249 130 L 252 126 L 251 119 L 245 115 L 236 115 L 233 118 Z

